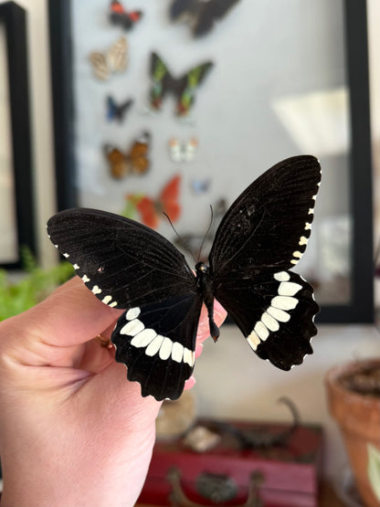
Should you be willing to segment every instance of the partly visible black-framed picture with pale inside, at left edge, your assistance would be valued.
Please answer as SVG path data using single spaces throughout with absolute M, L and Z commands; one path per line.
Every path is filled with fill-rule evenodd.
M 26 12 L 0 4 L 0 267 L 22 267 L 35 252 L 30 149 Z

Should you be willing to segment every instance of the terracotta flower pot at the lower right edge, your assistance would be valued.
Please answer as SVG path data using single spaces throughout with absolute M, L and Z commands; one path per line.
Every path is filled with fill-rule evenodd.
M 375 507 L 380 499 L 371 459 L 374 452 L 377 456 L 380 453 L 380 396 L 358 394 L 344 381 L 368 368 L 380 369 L 380 359 L 332 368 L 326 375 L 326 387 L 330 412 L 340 425 L 356 487 L 365 505 Z

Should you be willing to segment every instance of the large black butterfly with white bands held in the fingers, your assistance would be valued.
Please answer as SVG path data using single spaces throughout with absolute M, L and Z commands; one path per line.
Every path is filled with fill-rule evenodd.
M 195 274 L 170 241 L 133 220 L 94 209 L 51 217 L 47 232 L 87 287 L 124 310 L 112 333 L 116 360 L 142 396 L 181 396 L 194 369 L 202 304 L 210 334 L 214 298 L 262 359 L 283 370 L 311 354 L 319 307 L 311 285 L 290 271 L 311 235 L 321 181 L 310 155 L 289 158 L 237 197 L 216 230 L 209 266 Z

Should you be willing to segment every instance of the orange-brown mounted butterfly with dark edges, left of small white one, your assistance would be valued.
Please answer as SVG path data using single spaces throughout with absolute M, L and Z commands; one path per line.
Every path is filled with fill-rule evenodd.
M 131 146 L 129 152 L 121 152 L 119 148 L 105 144 L 104 153 L 110 164 L 111 176 L 115 179 L 121 179 L 128 174 L 145 174 L 150 166 L 148 158 L 151 143 L 151 134 L 142 132 Z

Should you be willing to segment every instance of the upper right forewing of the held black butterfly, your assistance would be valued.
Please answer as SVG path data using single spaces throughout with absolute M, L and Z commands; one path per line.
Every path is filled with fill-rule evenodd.
M 259 176 L 221 221 L 209 261 L 214 276 L 241 269 L 290 269 L 311 235 L 321 167 L 309 155 L 291 157 Z

